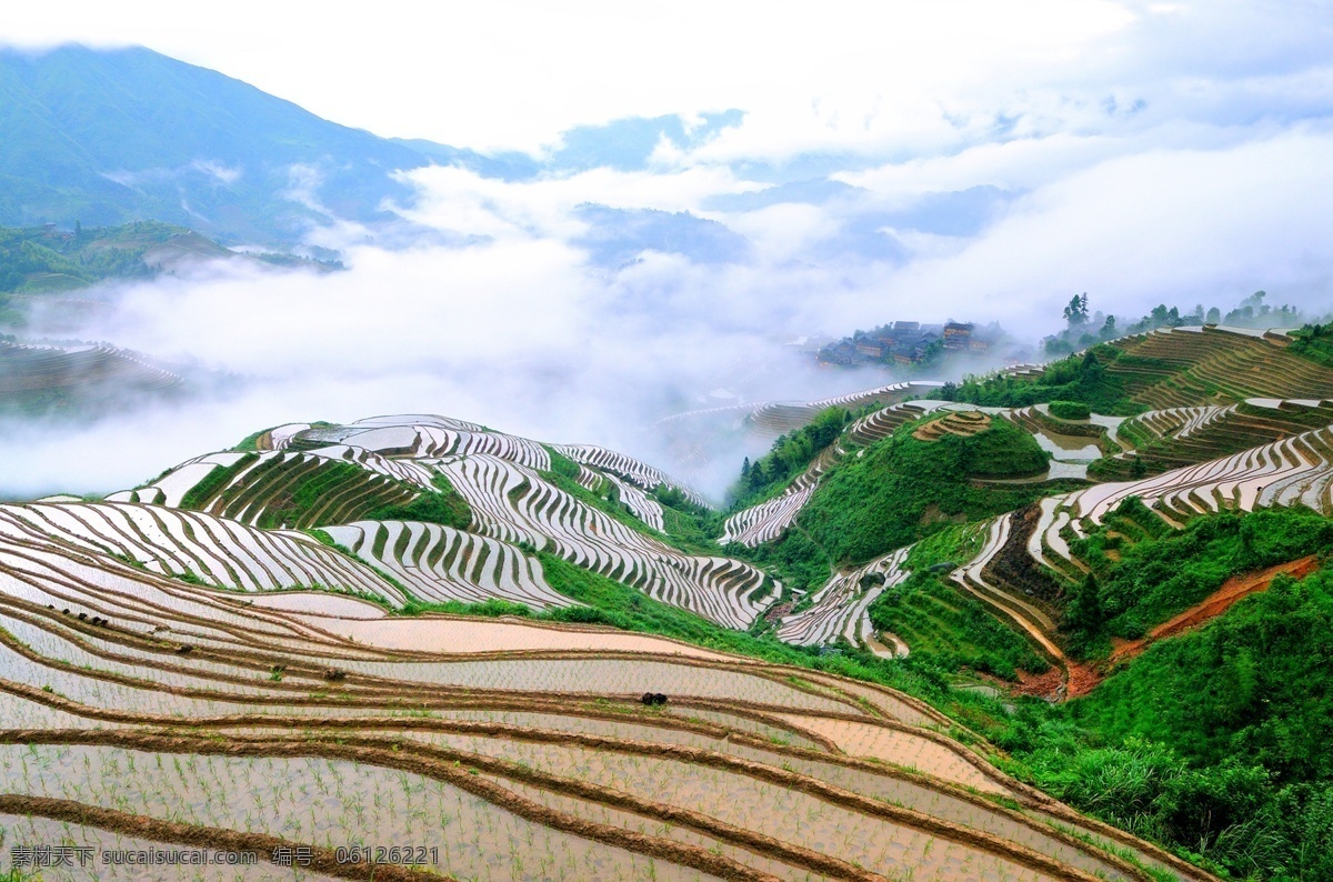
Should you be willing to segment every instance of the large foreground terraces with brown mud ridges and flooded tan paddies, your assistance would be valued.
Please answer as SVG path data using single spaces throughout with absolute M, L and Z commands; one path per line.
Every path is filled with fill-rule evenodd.
M 475 628 L 484 653 L 351 640 L 341 625 L 376 620 L 252 605 L 96 549 L 147 542 L 128 516 L 71 529 L 80 544 L 19 529 L 32 516 L 15 508 L 0 536 L 15 841 L 240 849 L 259 861 L 244 878 L 1146 882 L 1058 821 L 1208 878 L 1009 779 L 880 686 L 600 629 L 403 620 L 460 645 Z M 428 538 L 445 541 L 420 532 L 419 553 L 391 560 L 429 558 Z M 559 640 L 519 649 L 507 628 Z M 640 645 L 560 648 L 613 637 Z M 352 846 L 420 862 L 372 866 Z M 308 865 L 273 866 L 279 847 Z M 61 873 L 43 878 L 85 878 Z

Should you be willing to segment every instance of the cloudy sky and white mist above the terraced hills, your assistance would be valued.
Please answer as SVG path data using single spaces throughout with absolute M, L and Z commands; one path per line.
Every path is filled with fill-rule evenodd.
M 99 337 L 268 385 L 192 430 L 100 426 L 125 456 L 80 486 L 288 418 L 391 410 L 660 457 L 653 414 L 728 385 L 790 400 L 874 381 L 782 368 L 738 392 L 746 365 L 781 362 L 774 342 L 896 318 L 1036 338 L 1082 292 L 1129 317 L 1257 289 L 1333 312 L 1328 3 L 73 0 L 0 17 L 0 43 L 63 41 L 147 45 L 337 123 L 528 164 L 404 175 L 392 208 L 445 237 L 312 229 L 348 273 L 123 292 Z M 251 301 L 281 320 L 232 320 Z M 129 453 L 149 425 L 156 468 Z M 88 442 L 43 432 L 49 450 Z M 25 444 L 0 432 L 0 456 Z M 25 486 L 72 458 L 31 460 Z

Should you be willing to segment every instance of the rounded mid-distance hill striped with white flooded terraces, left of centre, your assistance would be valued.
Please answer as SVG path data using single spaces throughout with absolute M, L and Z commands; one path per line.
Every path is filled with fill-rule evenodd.
M 584 486 L 615 485 L 641 530 L 547 481 L 543 473 L 552 460 L 541 444 L 460 420 L 408 414 L 343 426 L 291 424 L 263 433 L 256 446 L 249 453 L 197 457 L 144 488 L 108 498 L 196 509 L 216 516 L 211 522 L 327 528 L 369 566 L 340 578 L 289 580 L 281 588 L 319 584 L 397 605 L 409 594 L 428 602 L 499 598 L 536 609 L 569 605 L 520 545 L 730 628 L 746 628 L 780 592 L 748 564 L 682 554 L 656 538 L 653 530 L 664 528 L 664 517 L 648 490 L 676 488 L 702 500 L 652 466 L 603 448 L 571 445 L 557 452 L 581 464 Z M 472 506 L 467 532 L 364 520 L 435 492 L 440 476 Z M 287 538 L 311 545 L 296 533 Z M 385 585 L 376 569 L 392 584 Z

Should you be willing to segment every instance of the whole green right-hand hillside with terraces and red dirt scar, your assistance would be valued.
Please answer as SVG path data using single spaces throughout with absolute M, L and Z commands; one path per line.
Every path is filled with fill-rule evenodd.
M 980 690 L 940 706 L 1052 795 L 1226 878 L 1333 878 L 1328 336 L 1144 333 L 872 414 L 886 436 L 825 420 L 737 485 L 732 518 L 785 528 L 728 550 L 812 589 L 793 621 L 854 580 L 838 602 L 910 649 L 894 666 Z M 837 456 L 808 497 L 753 492 L 816 438 Z M 1056 441 L 1093 457 L 1085 481 L 1006 481 L 1069 457 Z M 1145 498 L 1101 509 L 1098 481 Z M 1316 572 L 1269 585 L 1281 568 Z

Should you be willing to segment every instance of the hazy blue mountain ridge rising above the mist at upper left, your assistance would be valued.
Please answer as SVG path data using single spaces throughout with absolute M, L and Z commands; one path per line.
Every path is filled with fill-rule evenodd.
M 0 49 L 0 225 L 156 219 L 291 242 L 329 215 L 392 219 L 397 169 L 464 156 L 323 120 L 144 48 Z

